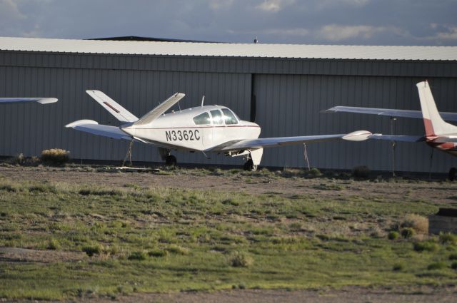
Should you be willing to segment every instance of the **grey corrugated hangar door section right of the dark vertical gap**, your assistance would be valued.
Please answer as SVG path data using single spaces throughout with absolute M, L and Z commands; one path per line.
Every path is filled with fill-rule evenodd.
M 391 120 L 376 115 L 320 113 L 333 106 L 365 106 L 420 110 L 416 83 L 422 78 L 365 76 L 256 75 L 256 122 L 261 136 L 318 135 L 370 130 L 391 133 Z M 440 111 L 457 111 L 456 78 L 431 78 L 433 95 Z M 423 135 L 420 119 L 398 118 L 397 135 Z M 307 145 L 311 165 L 318 168 L 353 168 L 368 165 L 373 170 L 389 170 L 391 144 L 335 142 Z M 398 143 L 396 170 L 428 171 L 431 148 L 425 143 Z M 303 146 L 267 149 L 263 163 L 280 167 L 303 167 Z M 456 165 L 456 157 L 436 152 L 433 171 L 446 172 Z

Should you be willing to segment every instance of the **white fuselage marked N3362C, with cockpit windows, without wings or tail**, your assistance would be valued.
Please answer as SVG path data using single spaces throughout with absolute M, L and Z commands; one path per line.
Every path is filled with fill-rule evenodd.
M 256 123 L 227 118 L 229 108 L 201 106 L 161 115 L 149 125 L 121 125 L 121 130 L 138 140 L 174 150 L 203 151 L 230 140 L 256 139 Z

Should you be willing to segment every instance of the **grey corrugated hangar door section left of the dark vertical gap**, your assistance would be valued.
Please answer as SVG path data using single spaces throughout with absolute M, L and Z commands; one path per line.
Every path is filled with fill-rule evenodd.
M 64 128 L 80 119 L 100 124 L 119 125 L 119 121 L 99 106 L 86 89 L 98 89 L 141 116 L 176 91 L 185 92 L 181 108 L 206 104 L 223 104 L 248 119 L 251 98 L 251 75 L 240 73 L 183 73 L 168 71 L 127 71 L 78 68 L 0 67 L 2 96 L 53 96 L 59 102 L 4 105 L 0 108 L 0 155 L 39 155 L 46 148 L 64 148 L 73 158 L 96 160 L 123 159 L 128 141 L 102 138 Z M 179 107 L 174 106 L 178 111 Z M 203 154 L 179 153 L 178 160 L 207 163 Z M 137 143 L 134 160 L 161 161 L 156 148 Z M 214 156 L 211 163 L 233 162 Z

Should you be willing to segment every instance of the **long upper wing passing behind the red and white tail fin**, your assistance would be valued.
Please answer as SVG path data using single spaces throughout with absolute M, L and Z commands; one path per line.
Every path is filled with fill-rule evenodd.
M 366 113 L 371 115 L 387 115 L 389 117 L 418 118 L 422 119 L 421 111 L 408 111 L 388 108 L 357 108 L 352 106 L 335 106 L 324 111 L 325 113 Z M 440 112 L 443 120 L 457 121 L 457 113 Z

